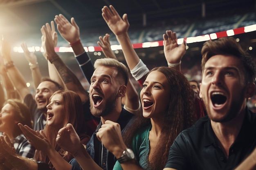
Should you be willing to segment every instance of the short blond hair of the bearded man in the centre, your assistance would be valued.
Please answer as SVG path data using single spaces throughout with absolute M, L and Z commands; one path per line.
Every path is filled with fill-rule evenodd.
M 96 69 L 99 66 L 114 67 L 117 70 L 119 77 L 121 77 L 124 80 L 125 85 L 127 85 L 129 81 L 129 71 L 123 63 L 112 58 L 100 58 L 95 61 L 94 68 Z

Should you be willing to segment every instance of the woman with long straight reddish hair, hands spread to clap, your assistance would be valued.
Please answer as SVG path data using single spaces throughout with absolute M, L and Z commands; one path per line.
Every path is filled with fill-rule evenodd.
M 73 91 L 56 91 L 47 105 L 47 122 L 44 130 L 34 131 L 29 126 L 18 124 L 29 143 L 36 148 L 34 161 L 13 155 L 6 137 L 1 139 L 0 152 L 5 155 L 4 160 L 10 168 L 27 170 L 70 170 L 69 161 L 73 158 L 70 152 L 60 148 L 56 143 L 58 130 L 72 124 L 80 137 L 81 143 L 86 144 L 90 137 L 85 134 L 83 126 L 83 107 L 81 98 Z M 2 159 L 3 155 L 0 155 Z M 8 158 L 8 159 L 7 159 Z M 22 165 L 22 166 L 20 166 Z

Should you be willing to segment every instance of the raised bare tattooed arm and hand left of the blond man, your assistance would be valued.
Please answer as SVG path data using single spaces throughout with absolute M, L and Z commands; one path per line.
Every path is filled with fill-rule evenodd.
M 48 23 L 41 28 L 41 32 L 43 35 L 42 44 L 45 46 L 47 59 L 54 64 L 67 89 L 76 92 L 81 97 L 82 102 L 88 101 L 88 93 L 83 88 L 79 79 L 54 51 L 54 41 L 52 40 L 52 33 Z M 54 34 L 57 33 L 54 32 Z

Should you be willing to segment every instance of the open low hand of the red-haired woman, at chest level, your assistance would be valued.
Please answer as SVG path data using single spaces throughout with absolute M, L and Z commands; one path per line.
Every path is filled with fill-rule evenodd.
M 18 124 L 18 126 L 20 127 L 20 130 L 27 138 L 29 143 L 33 145 L 37 150 L 42 150 L 43 152 L 46 152 L 51 147 L 49 141 L 47 141 L 47 139 L 45 138 L 43 131 L 39 133 L 38 131 L 29 128 L 29 126 L 23 126 L 20 123 Z

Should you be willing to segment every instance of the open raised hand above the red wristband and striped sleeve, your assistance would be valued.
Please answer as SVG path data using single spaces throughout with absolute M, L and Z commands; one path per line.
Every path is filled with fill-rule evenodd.
M 58 32 L 69 43 L 74 43 L 80 40 L 79 26 L 75 19 L 71 18 L 71 23 L 62 14 L 56 15 L 54 21 L 57 24 Z

